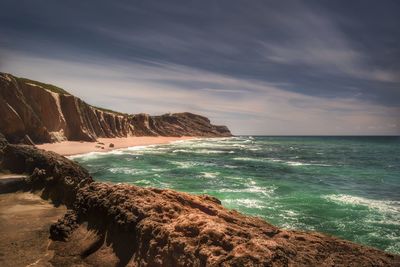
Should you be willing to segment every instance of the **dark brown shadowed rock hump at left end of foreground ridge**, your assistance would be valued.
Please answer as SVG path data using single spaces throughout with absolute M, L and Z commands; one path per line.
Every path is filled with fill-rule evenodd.
M 27 174 L 29 178 L 19 184 L 19 189 L 41 191 L 44 199 L 68 207 L 74 203 L 78 188 L 93 181 L 75 162 L 27 145 L 8 144 L 0 148 L 0 171 Z

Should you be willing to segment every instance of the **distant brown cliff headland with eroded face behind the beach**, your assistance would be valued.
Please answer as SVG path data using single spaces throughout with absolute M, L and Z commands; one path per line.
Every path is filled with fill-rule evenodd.
M 56 86 L 0 73 L 0 132 L 13 143 L 126 136 L 230 136 L 192 113 L 128 115 L 91 106 Z

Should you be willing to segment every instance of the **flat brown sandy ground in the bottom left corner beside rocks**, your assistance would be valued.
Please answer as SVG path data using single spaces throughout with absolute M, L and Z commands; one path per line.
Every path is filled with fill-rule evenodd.
M 0 266 L 51 266 L 50 225 L 65 211 L 35 194 L 0 194 Z

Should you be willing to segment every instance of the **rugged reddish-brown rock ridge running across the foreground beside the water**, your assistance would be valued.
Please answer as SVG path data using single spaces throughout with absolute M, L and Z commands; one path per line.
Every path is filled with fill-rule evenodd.
M 53 266 L 400 266 L 400 256 L 315 232 L 279 229 L 210 196 L 94 182 L 55 153 L 9 145 L 0 169 L 70 209 L 50 228 Z

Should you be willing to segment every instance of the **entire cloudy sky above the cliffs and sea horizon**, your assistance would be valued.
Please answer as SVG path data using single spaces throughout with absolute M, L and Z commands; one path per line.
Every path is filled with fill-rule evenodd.
M 0 71 L 237 135 L 400 135 L 400 1 L 1 0 Z

